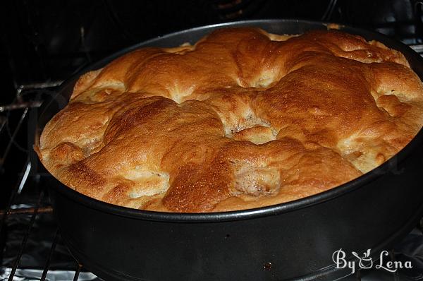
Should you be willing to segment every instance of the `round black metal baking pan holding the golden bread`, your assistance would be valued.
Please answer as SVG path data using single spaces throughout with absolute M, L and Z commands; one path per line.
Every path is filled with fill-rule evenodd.
M 42 105 L 38 132 L 68 102 L 78 77 L 146 46 L 195 43 L 216 28 L 255 26 L 278 34 L 326 29 L 305 20 L 246 20 L 193 28 L 142 42 L 85 68 Z M 422 58 L 384 35 L 378 40 L 407 57 L 423 78 Z M 39 136 L 36 136 L 39 141 Z M 423 132 L 395 157 L 342 186 L 279 205 L 226 213 L 159 213 L 111 205 L 50 178 L 63 240 L 82 265 L 105 280 L 333 280 L 333 252 L 388 250 L 423 214 Z

